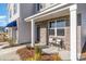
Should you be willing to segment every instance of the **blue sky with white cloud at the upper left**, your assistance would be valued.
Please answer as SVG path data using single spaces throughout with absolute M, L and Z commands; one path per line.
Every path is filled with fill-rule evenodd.
M 5 26 L 8 24 L 8 4 L 0 3 L 0 26 Z

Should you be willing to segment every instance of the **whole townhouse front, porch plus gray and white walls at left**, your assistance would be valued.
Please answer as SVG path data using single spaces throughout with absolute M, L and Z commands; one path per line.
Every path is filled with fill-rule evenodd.
M 11 31 L 15 30 L 10 36 L 15 36 L 13 38 L 17 43 L 30 42 L 34 47 L 37 42 L 39 46 L 49 46 L 60 39 L 62 49 L 72 50 L 74 53 L 71 56 L 77 55 L 74 59 L 81 59 L 86 42 L 86 4 L 16 3 L 16 14 L 13 14 L 14 4 L 9 4 L 10 22 L 16 21 L 17 28 L 11 28 Z

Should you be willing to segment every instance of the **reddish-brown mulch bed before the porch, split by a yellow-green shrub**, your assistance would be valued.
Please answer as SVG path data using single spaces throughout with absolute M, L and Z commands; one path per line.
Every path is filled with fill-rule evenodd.
M 34 57 L 35 56 L 35 49 L 34 48 L 22 48 L 20 50 L 16 51 L 19 53 L 19 55 L 21 56 L 21 59 L 23 61 L 26 61 L 29 57 Z M 47 53 L 41 53 L 40 57 L 38 59 L 38 61 L 61 61 L 61 57 L 59 56 L 59 54 L 47 54 Z

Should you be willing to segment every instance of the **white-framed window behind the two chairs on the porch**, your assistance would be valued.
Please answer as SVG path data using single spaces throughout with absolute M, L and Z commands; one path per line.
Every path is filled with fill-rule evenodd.
M 67 23 L 69 25 L 70 23 Z M 64 36 L 65 20 L 52 21 L 49 23 L 49 35 Z M 56 33 L 57 31 L 57 33 Z

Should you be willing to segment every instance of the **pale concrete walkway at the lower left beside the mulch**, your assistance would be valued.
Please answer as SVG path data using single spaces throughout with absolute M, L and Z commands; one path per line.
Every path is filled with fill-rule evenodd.
M 7 48 L 0 50 L 0 61 L 20 61 L 20 55 L 16 53 L 17 49 L 24 48 L 24 46 Z

